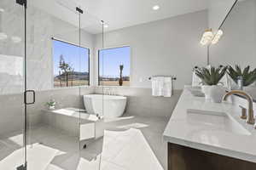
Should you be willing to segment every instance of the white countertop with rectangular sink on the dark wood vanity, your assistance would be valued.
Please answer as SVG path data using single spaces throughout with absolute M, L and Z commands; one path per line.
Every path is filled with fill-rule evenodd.
M 225 112 L 248 134 L 236 133 L 212 116 L 188 114 L 187 109 Z M 230 103 L 216 104 L 183 90 L 163 133 L 166 142 L 206 150 L 223 156 L 256 162 L 256 129 L 240 118 L 241 109 Z M 219 127 L 216 126 L 216 124 Z M 215 126 L 212 126 L 214 124 Z

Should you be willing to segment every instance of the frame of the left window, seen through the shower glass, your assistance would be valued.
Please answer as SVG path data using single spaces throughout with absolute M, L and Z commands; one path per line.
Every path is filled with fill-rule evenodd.
M 78 88 L 78 87 L 89 87 L 90 86 L 90 48 L 87 48 L 87 47 L 84 47 L 84 46 L 82 46 L 82 45 L 79 45 L 79 44 L 77 44 L 77 43 L 73 43 L 73 42 L 68 42 L 68 41 L 66 41 L 66 40 L 62 40 L 61 38 L 56 38 L 56 37 L 51 37 L 51 40 L 52 40 L 52 42 L 53 41 L 58 41 L 58 42 L 64 42 L 64 43 L 67 43 L 67 44 L 70 44 L 70 45 L 73 45 L 73 46 L 76 46 L 76 47 L 79 47 L 79 48 L 86 48 L 86 49 L 88 49 L 88 84 L 87 85 L 80 85 L 80 86 L 68 86 L 68 87 L 62 87 L 62 88 Z M 51 53 L 51 57 L 52 57 L 52 74 L 53 74 L 53 77 L 52 77 L 52 86 L 53 86 L 53 88 L 54 89 L 60 89 L 61 87 L 55 87 L 55 81 L 54 81 L 54 78 L 55 78 L 55 76 L 54 76 L 54 65 L 55 65 L 55 61 L 54 61 L 54 57 L 53 57 L 53 50 L 54 50 L 54 48 L 53 48 L 53 45 L 52 45 L 52 53 Z

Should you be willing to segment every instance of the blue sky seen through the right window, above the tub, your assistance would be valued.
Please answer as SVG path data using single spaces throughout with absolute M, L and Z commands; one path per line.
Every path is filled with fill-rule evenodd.
M 124 65 L 123 76 L 130 76 L 131 48 L 108 48 L 100 51 L 100 73 L 105 77 L 119 77 L 119 65 Z

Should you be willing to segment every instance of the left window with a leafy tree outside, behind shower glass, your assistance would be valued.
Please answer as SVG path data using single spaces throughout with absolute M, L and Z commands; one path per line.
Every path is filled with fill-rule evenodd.
M 54 88 L 90 83 L 89 48 L 53 39 Z

